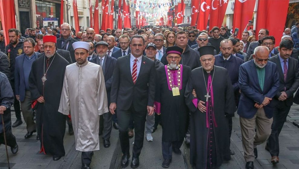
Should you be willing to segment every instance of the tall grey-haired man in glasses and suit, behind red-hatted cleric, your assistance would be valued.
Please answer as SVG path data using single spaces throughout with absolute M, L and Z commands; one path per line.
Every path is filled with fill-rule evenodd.
M 69 53 L 71 54 L 72 62 L 76 62 L 75 51 L 72 44 L 77 41 L 78 40 L 72 38 L 71 36 L 71 26 L 68 23 L 61 24 L 61 38 L 57 39 L 57 49 L 69 51 Z

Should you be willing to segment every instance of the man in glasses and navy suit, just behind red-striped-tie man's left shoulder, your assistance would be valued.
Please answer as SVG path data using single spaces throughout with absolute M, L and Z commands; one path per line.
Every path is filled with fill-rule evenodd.
M 128 35 L 121 35 L 119 37 L 119 46 L 121 47 L 121 50 L 117 50 L 116 52 L 113 52 L 112 53 L 112 57 L 114 58 L 119 58 L 121 56 L 126 56 L 128 55 L 129 53 L 131 53 L 131 49 L 129 47 L 130 45 L 130 38 Z

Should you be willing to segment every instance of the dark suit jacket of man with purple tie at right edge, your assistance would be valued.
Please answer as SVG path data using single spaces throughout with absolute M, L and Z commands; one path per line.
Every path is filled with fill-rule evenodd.
M 299 87 L 299 66 L 298 61 L 294 58 L 289 57 L 288 61 L 288 73 L 286 80 L 284 79 L 284 75 L 282 72 L 279 56 L 273 56 L 269 59 L 269 61 L 273 62 L 277 66 L 277 72 L 279 75 L 279 90 L 276 92 L 276 95 L 273 99 L 274 102 L 278 103 L 278 97 L 280 96 L 281 91 L 285 91 L 288 95 L 288 98 L 284 101 L 287 106 L 291 106 L 293 104 L 294 93 Z M 286 88 L 286 90 L 285 90 Z M 297 98 L 298 99 L 298 98 Z

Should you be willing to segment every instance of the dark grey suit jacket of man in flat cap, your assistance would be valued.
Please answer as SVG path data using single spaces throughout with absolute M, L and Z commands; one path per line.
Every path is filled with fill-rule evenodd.
M 111 86 L 112 86 L 112 80 L 113 80 L 113 71 L 116 64 L 117 59 L 106 55 L 104 61 L 104 79 L 105 79 L 105 86 L 107 91 L 107 99 L 108 99 L 108 106 L 110 105 L 110 95 L 111 95 Z M 90 60 L 90 62 L 100 65 L 100 59 L 99 57 L 94 57 Z

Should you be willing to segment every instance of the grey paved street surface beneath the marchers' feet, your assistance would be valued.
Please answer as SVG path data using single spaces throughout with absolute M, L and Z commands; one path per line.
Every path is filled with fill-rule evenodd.
M 16 120 L 14 112 L 11 113 L 12 123 Z M 254 161 L 256 169 L 298 169 L 299 168 L 299 105 L 294 104 L 288 115 L 287 122 L 280 134 L 280 163 L 272 165 L 270 163 L 271 155 L 265 150 L 265 144 L 259 145 L 258 158 Z M 67 125 L 66 125 L 67 126 Z M 26 134 L 26 124 L 13 128 L 13 134 L 16 136 L 19 151 L 13 155 L 8 147 L 9 161 L 12 169 L 80 169 L 81 153 L 74 149 L 74 136 L 69 136 L 66 128 L 64 145 L 66 156 L 59 161 L 53 161 L 51 155 L 39 153 L 40 143 L 36 140 L 36 133 L 30 139 L 24 139 Z M 140 155 L 140 166 L 143 169 L 160 169 L 163 158 L 161 151 L 162 128 L 158 127 L 153 133 L 153 142 L 147 142 L 144 139 L 143 150 Z M 131 145 L 134 138 L 130 139 Z M 220 169 L 243 169 L 245 161 L 243 158 L 243 148 L 241 142 L 241 130 L 239 116 L 233 117 L 231 149 L 235 151 L 232 160 L 222 164 Z M 121 148 L 118 141 L 118 131 L 114 128 L 111 133 L 111 146 L 103 147 L 103 140 L 100 137 L 100 150 L 95 151 L 91 167 L 93 169 L 114 169 L 120 168 Z M 185 144 L 181 147 L 182 155 L 172 156 L 171 169 L 191 168 L 189 164 L 189 148 Z M 132 155 L 132 146 L 130 147 Z M 130 158 L 130 160 L 132 157 Z M 7 168 L 7 159 L 5 146 L 0 145 L 0 169 Z M 130 168 L 128 166 L 127 168 Z

